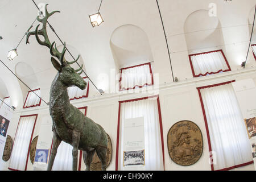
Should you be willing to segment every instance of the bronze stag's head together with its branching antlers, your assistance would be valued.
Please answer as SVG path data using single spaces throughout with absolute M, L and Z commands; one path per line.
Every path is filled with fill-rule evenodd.
M 48 23 L 47 19 L 49 18 L 49 16 L 53 15 L 54 13 L 59 13 L 60 11 L 53 11 L 52 13 L 48 13 L 47 5 L 46 5 L 46 9 L 45 9 L 46 16 L 42 19 L 40 19 L 39 16 L 37 16 L 37 18 L 36 18 L 39 22 L 42 23 L 42 28 L 40 30 L 38 30 L 38 28 L 40 26 L 40 24 L 38 24 L 38 26 L 36 26 L 35 31 L 27 32 L 26 43 L 29 43 L 28 38 L 30 37 L 30 35 L 35 35 L 38 43 L 42 46 L 48 47 L 50 49 L 51 55 L 54 57 L 57 57 L 57 59 L 60 61 L 60 63 L 59 63 L 59 61 L 57 61 L 54 57 L 51 57 L 51 62 L 53 64 L 53 67 L 55 67 L 57 69 L 57 71 L 59 71 L 60 81 L 63 82 L 63 84 L 68 87 L 69 86 L 77 86 L 78 88 L 84 90 L 86 88 L 87 83 L 80 76 L 82 73 L 82 66 L 79 69 L 73 69 L 70 66 L 70 64 L 76 63 L 76 61 L 79 60 L 79 56 L 74 61 L 67 61 L 64 57 L 65 52 L 67 51 L 65 43 L 64 43 L 62 52 L 59 52 L 56 47 L 56 43 L 55 42 L 51 43 L 49 41 L 49 38 L 47 35 L 47 30 L 46 30 L 47 23 Z M 44 37 L 44 41 L 40 40 L 39 35 L 42 35 Z

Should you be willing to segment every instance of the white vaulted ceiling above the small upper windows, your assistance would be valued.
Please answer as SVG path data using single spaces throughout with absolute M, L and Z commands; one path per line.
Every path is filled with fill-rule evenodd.
M 228 2 L 158 0 L 158 2 L 170 46 L 174 75 L 179 80 L 192 78 L 187 54 L 190 49 L 198 48 L 198 45 L 193 44 L 193 40 L 196 36 L 200 36 L 200 33 L 192 36 L 189 34 L 202 28 L 203 30 L 213 28 L 217 31 L 214 33 L 216 35 L 220 35 L 222 31 L 221 43 L 216 42 L 216 44 L 237 44 L 236 47 L 225 48 L 233 69 L 241 69 L 240 62 L 245 59 L 250 38 L 248 23 L 253 19 L 254 0 L 246 0 L 246 3 L 239 0 Z M 60 39 L 67 43 L 72 55 L 74 57 L 80 55 L 79 64 L 84 64 L 84 71 L 98 89 L 108 87 L 102 75 L 111 77 L 112 71 L 118 72 L 121 67 L 143 61 L 154 61 L 154 72 L 159 73 L 160 84 L 172 82 L 166 39 L 155 0 L 103 0 L 100 13 L 104 22 L 94 28 L 90 24 L 88 15 L 97 13 L 101 0 L 35 0 L 35 3 L 37 5 L 48 3 L 49 12 L 60 11 L 48 19 L 49 23 Z M 210 21 L 208 17 L 196 22 L 198 16 L 203 16 L 212 8 L 210 3 L 216 5 L 216 17 Z M 197 13 L 193 14 L 195 12 Z M 31 36 L 30 44 L 25 43 L 25 38 L 19 44 L 18 57 L 12 61 L 7 59 L 7 52 L 18 45 L 37 15 L 38 9 L 32 0 L 0 1 L 0 36 L 3 37 L 0 40 L 0 59 L 31 89 L 40 88 L 42 98 L 49 101 L 49 88 L 57 71 L 51 64 L 48 48 L 40 46 L 35 37 Z M 207 25 L 200 26 L 200 23 Z M 37 24 L 38 21 L 33 24 L 31 30 L 34 30 Z M 49 27 L 48 34 L 50 41 L 55 41 L 61 49 L 61 42 Z M 238 50 L 240 55 L 233 55 L 231 50 Z M 68 53 L 66 58 L 72 59 Z M 255 66 L 255 61 L 251 60 L 249 64 Z M 73 66 L 77 68 L 77 65 Z M 181 70 L 183 72 L 180 72 Z M 22 85 L 20 81 L 2 63 L 0 63 L 0 76 L 0 97 L 11 96 L 13 103 L 22 105 L 24 87 L 20 86 Z M 92 89 L 90 96 L 100 95 L 93 86 L 90 89 Z

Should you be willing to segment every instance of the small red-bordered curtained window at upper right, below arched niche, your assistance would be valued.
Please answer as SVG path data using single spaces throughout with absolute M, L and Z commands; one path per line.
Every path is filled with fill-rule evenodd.
M 231 71 L 222 50 L 189 55 L 193 77 Z

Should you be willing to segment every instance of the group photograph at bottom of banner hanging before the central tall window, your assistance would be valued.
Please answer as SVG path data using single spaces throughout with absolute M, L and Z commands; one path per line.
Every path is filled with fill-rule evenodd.
M 123 151 L 123 166 L 145 165 L 145 150 Z

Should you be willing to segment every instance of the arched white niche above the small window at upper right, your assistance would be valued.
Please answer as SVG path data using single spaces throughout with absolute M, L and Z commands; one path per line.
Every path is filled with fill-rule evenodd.
M 224 44 L 221 23 L 217 16 L 209 16 L 208 10 L 191 13 L 184 23 L 188 53 L 206 52 Z

